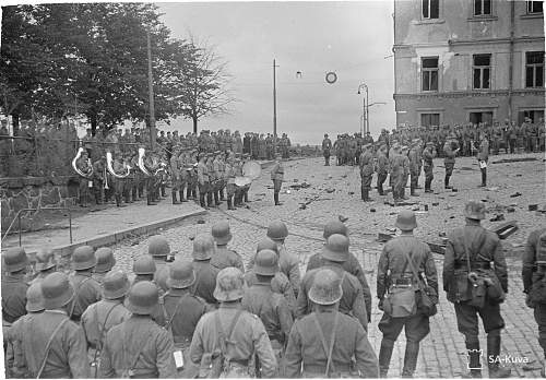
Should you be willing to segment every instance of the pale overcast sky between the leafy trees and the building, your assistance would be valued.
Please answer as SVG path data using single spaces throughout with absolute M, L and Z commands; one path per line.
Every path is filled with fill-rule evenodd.
M 371 134 L 395 123 L 392 1 L 159 3 L 159 11 L 174 36 L 191 32 L 228 62 L 238 102 L 230 115 L 203 118 L 200 129 L 271 132 L 273 58 L 277 133 L 288 133 L 293 143 L 317 144 L 324 133 L 357 132 L 363 82 L 370 104 L 387 103 L 370 107 Z M 324 80 L 330 71 L 337 74 L 334 84 Z M 171 126 L 191 130 L 190 120 Z

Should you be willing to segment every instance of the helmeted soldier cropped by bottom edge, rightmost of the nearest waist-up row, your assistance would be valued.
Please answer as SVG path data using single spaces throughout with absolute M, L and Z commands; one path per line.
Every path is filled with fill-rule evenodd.
M 377 378 L 378 360 L 366 331 L 337 311 L 343 281 L 320 270 L 309 289 L 316 310 L 294 323 L 286 347 L 286 377 Z M 354 361 L 353 361 L 354 360 Z

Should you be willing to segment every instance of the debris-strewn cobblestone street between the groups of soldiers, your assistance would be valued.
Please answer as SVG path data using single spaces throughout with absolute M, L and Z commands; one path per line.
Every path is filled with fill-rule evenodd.
M 416 235 L 426 241 L 440 241 L 439 234 L 464 223 L 462 210 L 468 199 L 487 202 L 490 211 L 503 213 L 507 221 L 518 221 L 520 229 L 502 241 L 508 257 L 509 294 L 502 305 L 502 316 L 506 330 L 502 332 L 501 355 L 509 355 L 513 360 L 525 363 L 508 364 L 515 377 L 538 377 L 541 349 L 537 343 L 537 326 L 532 309 L 525 306 L 521 281 L 521 250 L 527 234 L 545 224 L 545 215 L 527 211 L 527 205 L 544 203 L 544 163 L 541 154 L 526 155 L 537 161 L 508 164 L 495 164 L 500 158 L 520 156 L 501 155 L 490 157 L 487 189 L 478 189 L 479 169 L 475 158 L 458 158 L 452 177 L 452 185 L 458 192 L 443 190 L 443 161 L 435 159 L 435 194 L 422 193 L 411 201 L 419 202 Z M 359 175 L 357 167 L 330 166 L 324 167 L 322 158 L 308 158 L 285 163 L 285 183 L 281 193 L 282 206 L 273 206 L 272 183 L 269 180 L 269 169 L 262 170 L 262 176 L 253 182 L 247 209 L 226 211 L 226 204 L 211 210 L 204 216 L 197 216 L 162 231 L 168 238 L 171 249 L 178 256 L 189 258 L 191 239 L 199 233 L 210 231 L 211 225 L 222 218 L 230 222 L 234 239 L 230 247 L 237 250 L 245 261 L 254 253 L 256 242 L 265 235 L 266 225 L 274 219 L 282 219 L 290 233 L 286 240 L 288 250 L 297 252 L 300 258 L 301 271 L 305 271 L 308 258 L 316 253 L 322 245 L 322 226 L 339 215 L 347 217 L 351 231 L 352 251 L 365 269 L 373 296 L 372 322 L 369 328 L 369 339 L 377 353 L 381 342 L 381 333 L 377 324 L 381 312 L 377 308 L 376 266 L 382 244 L 377 241 L 377 235 L 393 228 L 396 213 L 404 206 L 393 207 L 383 204 L 384 197 L 379 197 L 373 190 L 371 203 L 360 201 Z M 373 178 L 373 185 L 376 177 Z M 420 178 L 423 186 L 424 179 Z M 308 183 L 309 187 L 307 187 Z M 290 186 L 301 186 L 299 190 Z M 286 193 L 289 190 L 289 193 Z M 515 192 L 521 195 L 514 195 Z M 408 193 L 408 191 L 407 191 Z M 309 202 L 310 201 L 310 202 Z M 438 205 L 434 205 L 438 202 Z M 305 209 L 301 204 L 308 203 Z M 428 212 L 424 206 L 428 205 Z M 515 211 L 507 213 L 506 206 L 512 205 Z M 143 205 L 143 207 L 145 207 Z M 174 206 L 176 207 L 176 206 Z M 405 206 L 412 207 L 412 206 Z M 375 209 L 375 211 L 372 211 Z M 488 214 L 488 218 L 494 213 Z M 484 221 L 485 227 L 499 222 Z M 136 237 L 116 247 L 118 266 L 130 271 L 134 257 L 146 250 L 145 237 Z M 443 258 L 435 254 L 437 270 L 440 274 Z M 422 343 L 416 377 L 460 377 L 466 371 L 466 353 L 462 334 L 456 330 L 453 306 L 447 301 L 446 294 L 440 289 L 438 314 L 431 318 L 430 334 Z M 482 331 L 482 348 L 486 348 L 485 335 Z M 389 376 L 400 377 L 403 366 L 405 341 L 396 343 Z M 485 355 L 484 355 L 485 356 Z M 484 360 L 485 363 L 485 357 Z M 529 363 L 526 363 L 529 361 Z

